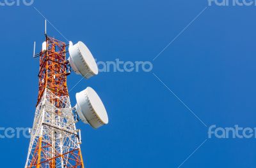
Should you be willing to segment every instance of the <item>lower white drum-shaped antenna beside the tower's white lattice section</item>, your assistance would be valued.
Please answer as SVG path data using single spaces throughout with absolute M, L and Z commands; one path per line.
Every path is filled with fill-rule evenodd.
M 108 123 L 108 114 L 99 95 L 91 87 L 76 94 L 76 111 L 84 123 L 94 129 Z

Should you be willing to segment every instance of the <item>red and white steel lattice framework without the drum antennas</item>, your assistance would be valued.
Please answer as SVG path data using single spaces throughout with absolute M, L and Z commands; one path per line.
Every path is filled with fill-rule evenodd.
M 84 167 L 67 89 L 66 45 L 46 36 L 40 52 L 38 101 L 26 168 Z

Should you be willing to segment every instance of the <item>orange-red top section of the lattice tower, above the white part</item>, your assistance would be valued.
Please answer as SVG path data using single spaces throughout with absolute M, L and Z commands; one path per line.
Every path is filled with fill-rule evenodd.
M 67 75 L 69 73 L 66 60 L 66 44 L 63 41 L 46 36 L 40 52 L 40 69 L 38 73 L 39 88 L 37 104 L 40 102 L 45 88 L 61 97 L 68 95 Z M 56 106 L 60 106 L 57 102 Z

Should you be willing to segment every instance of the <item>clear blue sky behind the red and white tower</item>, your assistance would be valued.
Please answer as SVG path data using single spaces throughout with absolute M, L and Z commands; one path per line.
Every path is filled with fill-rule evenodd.
M 97 60 L 151 61 L 150 73 L 100 73 L 90 86 L 109 124 L 79 123 L 86 167 L 179 167 L 207 139 L 209 126 L 255 127 L 255 6 L 211 6 L 180 34 L 207 1 L 36 1 L 33 6 L 68 39 L 84 41 Z M 38 94 L 33 41 L 44 18 L 33 6 L 1 6 L 0 127 L 32 127 Z M 65 39 L 48 24 L 49 36 Z M 68 76 L 68 87 L 81 76 Z M 255 139 L 209 139 L 182 167 L 256 167 Z M 29 139 L 0 139 L 0 167 L 24 167 Z

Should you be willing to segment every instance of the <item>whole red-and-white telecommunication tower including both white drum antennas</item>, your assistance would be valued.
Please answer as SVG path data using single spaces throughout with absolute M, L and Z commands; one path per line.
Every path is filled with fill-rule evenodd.
M 72 108 L 67 76 L 70 71 L 86 79 L 97 75 L 95 59 L 81 41 L 67 45 L 47 36 L 46 21 L 42 50 L 35 55 L 34 46 L 33 57 L 40 57 L 39 89 L 25 168 L 84 167 L 76 122 L 81 120 L 97 129 L 108 123 L 108 114 L 91 87 L 76 94 L 77 104 Z

